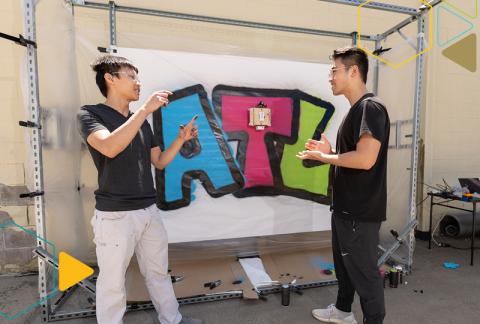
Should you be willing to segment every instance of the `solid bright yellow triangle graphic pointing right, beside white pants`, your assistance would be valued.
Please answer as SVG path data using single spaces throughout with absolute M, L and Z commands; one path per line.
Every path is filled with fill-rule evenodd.
M 58 256 L 58 289 L 65 291 L 91 276 L 93 269 L 65 252 Z

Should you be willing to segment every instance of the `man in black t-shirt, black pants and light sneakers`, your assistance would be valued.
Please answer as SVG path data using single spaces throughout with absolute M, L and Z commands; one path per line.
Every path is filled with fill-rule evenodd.
M 337 134 L 336 149 L 322 134 L 309 140 L 300 159 L 331 164 L 332 249 L 338 279 L 335 304 L 315 309 L 328 323 L 357 323 L 351 306 L 360 296 L 363 323 L 383 323 L 383 283 L 377 267 L 381 222 L 386 218 L 387 152 L 390 120 L 385 105 L 367 91 L 367 54 L 359 48 L 337 49 L 332 56 L 330 83 L 334 95 L 344 95 L 351 108 Z

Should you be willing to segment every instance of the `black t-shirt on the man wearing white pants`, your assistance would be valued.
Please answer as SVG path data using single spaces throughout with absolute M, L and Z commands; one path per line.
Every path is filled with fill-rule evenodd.
M 156 201 L 150 162 L 150 149 L 158 146 L 147 121 L 133 141 L 113 159 L 103 155 L 87 143 L 87 137 L 98 130 L 113 132 L 124 124 L 125 117 L 104 105 L 83 106 L 77 113 L 80 135 L 92 155 L 98 171 L 96 206 L 101 211 L 126 211 L 146 208 Z

